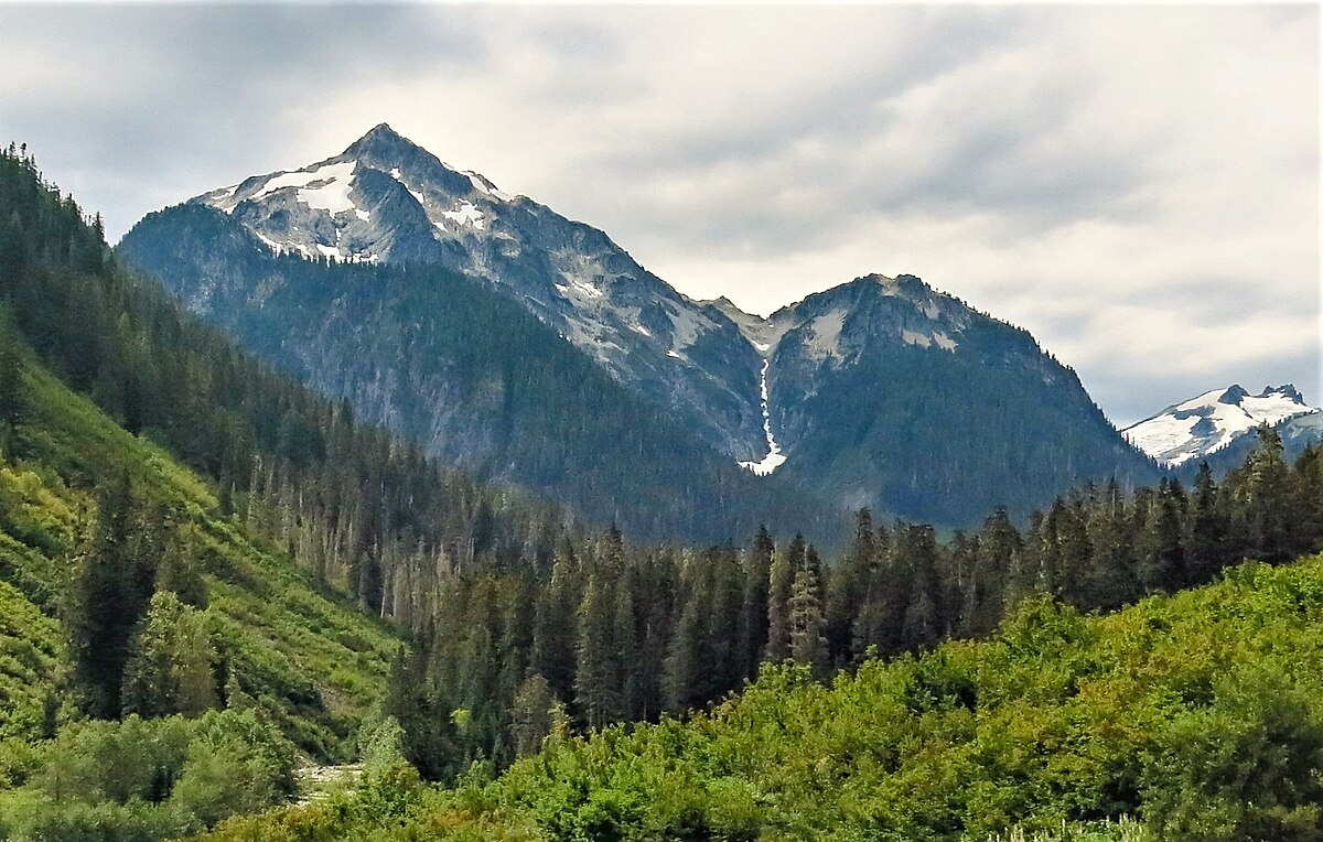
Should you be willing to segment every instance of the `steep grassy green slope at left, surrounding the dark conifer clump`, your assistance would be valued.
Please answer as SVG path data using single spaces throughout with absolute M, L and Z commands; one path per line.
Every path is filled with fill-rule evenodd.
M 94 488 L 127 473 L 136 505 L 167 513 L 201 567 L 217 671 L 303 751 L 345 756 L 381 695 L 392 633 L 222 517 L 193 472 L 24 357 L 17 457 L 0 465 L 0 736 L 30 740 L 75 715 L 64 590 L 95 518 Z

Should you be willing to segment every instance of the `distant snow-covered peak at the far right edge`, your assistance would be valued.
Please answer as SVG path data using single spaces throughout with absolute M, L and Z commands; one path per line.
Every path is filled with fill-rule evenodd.
M 1267 386 L 1257 395 L 1234 385 L 1170 406 L 1122 434 L 1131 444 L 1174 468 L 1220 451 L 1262 424 L 1275 427 L 1315 414 L 1323 418 L 1323 410 L 1306 404 L 1290 383 Z

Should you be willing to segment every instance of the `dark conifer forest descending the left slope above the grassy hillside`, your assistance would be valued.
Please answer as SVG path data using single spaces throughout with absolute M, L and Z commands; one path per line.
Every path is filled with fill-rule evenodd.
M 577 529 L 561 506 L 448 469 L 237 349 L 120 266 L 99 221 L 12 144 L 0 151 L 0 304 L 46 367 L 212 477 L 225 514 L 373 613 L 419 624 L 450 572 L 549 563 Z M 21 395 L 4 402 L 12 428 Z

